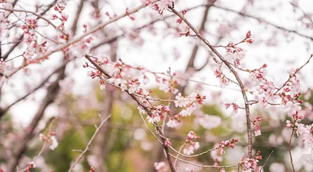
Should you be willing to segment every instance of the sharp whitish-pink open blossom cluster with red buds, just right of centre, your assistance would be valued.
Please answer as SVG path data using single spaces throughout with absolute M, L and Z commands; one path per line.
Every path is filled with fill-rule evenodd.
M 200 96 L 199 94 L 192 92 L 189 96 L 182 96 L 181 93 L 175 97 L 177 100 L 175 102 L 176 107 L 182 107 L 182 111 L 179 113 L 181 116 L 190 116 L 192 112 L 197 108 L 196 103 L 200 105 L 203 103 L 203 100 L 206 96 Z

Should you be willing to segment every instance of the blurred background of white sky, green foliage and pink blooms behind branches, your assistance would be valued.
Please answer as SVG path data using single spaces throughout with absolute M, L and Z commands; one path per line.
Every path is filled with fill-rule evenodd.
M 18 0 L 14 8 L 40 12 L 53 2 Z M 106 12 L 110 16 L 121 15 L 125 13 L 126 8 L 133 9 L 144 2 L 141 0 L 57 1 L 65 7 L 64 12 L 69 15 L 68 21 L 65 22 L 65 31 L 71 32 L 73 37 L 83 34 L 84 24 L 91 29 L 98 23 L 108 21 Z M 205 6 L 208 3 L 214 5 Z M 313 52 L 312 7 L 312 1 L 289 0 L 271 2 L 267 0 L 176 0 L 175 2 L 177 11 L 189 9 L 185 17 L 193 26 L 202 30 L 203 35 L 213 45 L 227 45 L 230 41 L 239 42 L 245 37 L 247 31 L 251 30 L 255 42 L 239 46 L 247 50 L 246 57 L 241 61 L 241 67 L 254 69 L 266 63 L 267 78 L 274 81 L 276 86 L 282 85 L 288 79 L 288 69 L 303 65 Z M 75 25 L 77 28 L 73 30 L 76 13 L 80 10 Z M 206 12 L 207 15 L 204 15 Z M 54 13 L 51 8 L 43 16 L 49 18 Z M 23 15 L 25 14 L 21 13 L 21 17 Z M 247 155 L 245 112 L 239 109 L 235 114 L 232 110 L 225 109 L 224 104 L 236 102 L 239 106 L 244 106 L 239 87 L 236 84 L 219 86 L 219 80 L 214 76 L 218 66 L 213 61 L 213 54 L 197 37 L 177 37 L 177 33 L 180 32 L 176 23 L 177 17 L 171 12 L 165 11 L 164 19 L 159 20 L 157 12 L 148 6 L 131 16 L 135 17 L 135 20 L 124 17 L 92 34 L 94 40 L 89 45 L 90 52 L 102 58 L 108 57 L 112 61 L 122 59 L 127 64 L 143 66 L 154 72 L 166 72 L 170 67 L 172 73 L 176 72 L 184 79 L 206 83 L 178 79 L 176 88 L 183 95 L 189 95 L 194 91 L 206 95 L 207 98 L 191 116 L 182 118 L 181 127 L 177 129 L 166 127 L 165 136 L 171 138 L 172 146 L 178 150 L 188 132 L 194 131 L 200 136 L 198 139 L 200 149 L 195 153 L 214 148 L 223 140 L 239 138 L 236 148 L 226 148 L 224 155 L 220 155 L 219 151 L 212 151 L 188 159 L 202 165 L 213 165 L 214 159 L 217 158 L 221 161 L 219 165 L 237 164 L 243 154 Z M 11 20 L 14 20 L 15 16 L 11 17 Z M 58 21 L 52 22 L 59 25 Z M 58 37 L 58 33 L 51 26 L 46 26 L 46 22 L 39 20 L 37 24 L 38 32 L 46 37 L 51 39 Z M 23 30 L 16 24 L 1 35 L 1 42 L 14 42 L 22 34 Z M 38 40 L 43 42 L 47 39 L 39 35 Z M 56 46 L 50 40 L 48 45 L 51 50 Z M 3 55 L 11 46 L 12 44 L 1 44 L 1 57 L 4 57 Z M 26 43 L 19 43 L 7 58 L 19 56 L 26 47 Z M 223 48 L 218 48 L 218 51 L 222 55 L 225 54 Z M 52 130 L 59 145 L 55 150 L 45 149 L 39 157 L 36 157 L 36 168 L 31 171 L 67 171 L 73 160 L 80 154 L 79 150 L 85 149 L 95 132 L 95 125 L 101 122 L 100 116 L 104 118 L 108 114 L 112 115 L 111 118 L 101 128 L 90 150 L 73 171 L 88 171 L 90 166 L 101 172 L 156 171 L 153 167 L 154 162 L 166 162 L 162 145 L 145 128 L 136 103 L 125 92 L 110 85 L 107 85 L 105 90 L 100 90 L 98 80 L 86 76 L 89 69 L 82 67 L 86 61 L 83 57 L 70 61 L 64 67 L 64 76 L 59 72 L 51 75 L 62 64 L 62 59 L 63 53 L 56 52 L 40 65 L 30 65 L 4 82 L 0 101 L 2 110 L 3 107 L 10 106 L 29 92 L 32 94 L 14 103 L 7 111 L 2 111 L 4 115 L 0 120 L 1 169 L 6 171 L 16 146 L 23 140 L 23 132 L 29 129 L 34 116 L 39 112 L 43 115 L 21 156 L 19 170 L 27 166 L 41 150 L 44 142 L 39 141 L 38 134 L 48 135 L 49 130 Z M 14 58 L 6 62 L 6 71 L 22 63 L 23 57 Z M 306 125 L 312 124 L 313 121 L 313 97 L 310 90 L 313 84 L 312 66 L 312 63 L 309 63 L 297 74 L 301 83 L 300 99 L 304 101 L 300 114 L 305 115 L 305 119 L 301 123 Z M 227 68 L 223 68 L 223 72 L 234 79 Z M 255 91 L 255 86 L 248 81 L 249 74 L 239 71 L 239 75 L 248 88 L 248 99 L 257 100 L 258 93 Z M 47 81 L 37 89 L 47 77 Z M 138 74 L 138 77 L 142 81 L 142 76 Z M 159 90 L 153 75 L 148 77 L 150 83 L 144 87 L 152 89 L 153 98 L 175 98 L 174 94 Z M 57 86 L 51 89 L 54 84 Z M 50 98 L 53 95 L 52 100 L 41 111 L 43 102 L 49 95 Z M 167 102 L 161 103 L 167 105 Z M 170 107 L 173 115 L 180 111 L 173 105 Z M 292 171 L 288 152 L 291 129 L 285 127 L 285 121 L 291 120 L 290 113 L 281 110 L 280 106 L 262 108 L 259 104 L 252 105 L 251 119 L 259 115 L 264 118 L 260 123 L 262 135 L 254 137 L 253 134 L 253 154 L 260 150 L 263 156 L 259 165 L 262 166 L 273 151 L 263 170 Z M 154 131 L 151 124 L 148 126 Z M 312 172 L 312 163 L 306 163 L 303 159 L 303 154 L 306 154 L 307 150 L 303 148 L 301 136 L 295 136 L 291 145 L 295 170 Z M 181 161 L 177 163 L 177 171 L 218 171 L 215 168 L 196 167 Z M 238 171 L 236 167 L 225 170 Z

